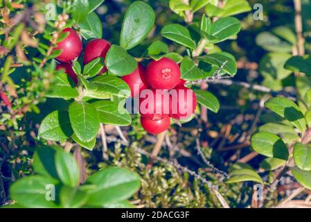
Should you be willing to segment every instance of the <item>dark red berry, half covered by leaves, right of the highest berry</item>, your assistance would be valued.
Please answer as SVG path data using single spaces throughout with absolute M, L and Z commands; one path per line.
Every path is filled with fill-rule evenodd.
M 87 63 L 95 60 L 98 57 L 102 57 L 105 59 L 110 46 L 111 44 L 108 41 L 102 39 L 94 39 L 89 41 L 87 43 L 87 46 L 85 46 L 85 56 L 83 57 L 83 64 L 86 65 Z M 103 67 L 100 73 L 103 74 L 105 71 L 107 71 L 107 68 Z

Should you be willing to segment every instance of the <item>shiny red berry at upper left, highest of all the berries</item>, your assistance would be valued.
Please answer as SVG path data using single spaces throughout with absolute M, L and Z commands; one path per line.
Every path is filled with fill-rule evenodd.
M 75 58 L 80 56 L 82 51 L 82 42 L 78 33 L 71 28 L 65 28 L 62 33 L 68 32 L 69 35 L 62 42 L 57 44 L 55 49 L 62 49 L 60 56 L 57 56 L 57 60 L 60 62 L 71 62 Z

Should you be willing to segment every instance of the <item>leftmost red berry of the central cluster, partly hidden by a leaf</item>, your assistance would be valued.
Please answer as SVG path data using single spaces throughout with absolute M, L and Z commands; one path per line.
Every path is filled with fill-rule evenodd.
M 132 72 L 132 74 L 123 76 L 122 79 L 131 89 L 132 97 L 139 98 L 143 89 L 147 89 L 145 81 L 145 69 L 141 64 Z

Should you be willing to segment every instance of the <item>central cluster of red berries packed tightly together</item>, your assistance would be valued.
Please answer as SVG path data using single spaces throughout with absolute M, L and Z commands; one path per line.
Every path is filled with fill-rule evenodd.
M 139 99 L 141 125 L 148 133 L 162 133 L 169 128 L 170 117 L 188 119 L 195 112 L 195 93 L 184 86 L 179 65 L 169 58 L 153 60 L 146 70 L 139 64 L 123 80 L 130 86 L 132 96 Z M 139 85 L 139 95 L 135 85 Z

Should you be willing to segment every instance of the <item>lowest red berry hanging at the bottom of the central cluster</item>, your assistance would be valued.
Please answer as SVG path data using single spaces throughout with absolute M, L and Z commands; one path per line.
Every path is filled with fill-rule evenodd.
M 170 127 L 170 117 L 167 116 L 160 120 L 141 117 L 141 126 L 143 126 L 148 133 L 162 133 Z

